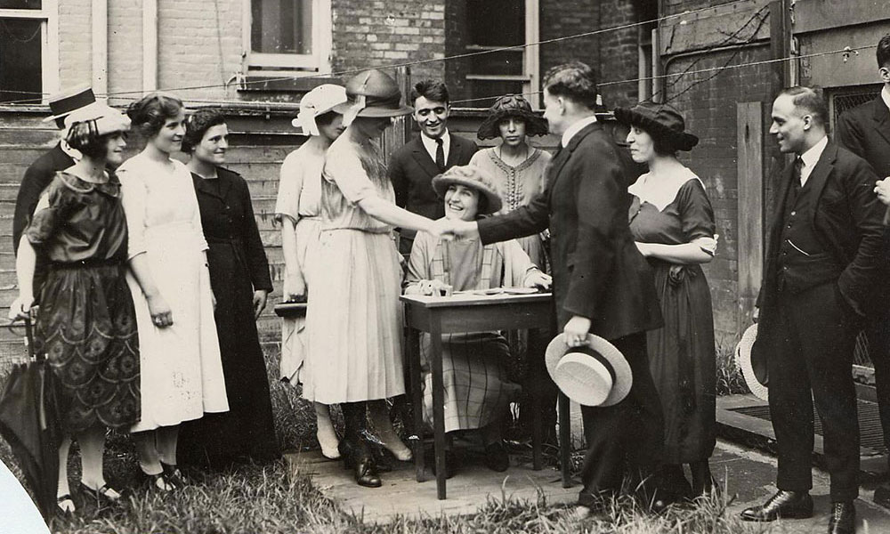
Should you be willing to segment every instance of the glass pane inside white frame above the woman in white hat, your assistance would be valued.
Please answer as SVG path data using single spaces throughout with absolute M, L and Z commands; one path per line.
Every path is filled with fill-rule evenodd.
M 250 48 L 312 53 L 312 0 L 251 0 Z

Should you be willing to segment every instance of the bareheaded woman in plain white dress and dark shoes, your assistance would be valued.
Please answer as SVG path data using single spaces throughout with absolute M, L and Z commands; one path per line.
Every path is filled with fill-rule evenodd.
M 117 169 L 142 347 L 142 420 L 131 432 L 147 483 L 171 491 L 185 483 L 176 467 L 179 425 L 229 403 L 195 186 L 189 169 L 170 158 L 185 134 L 182 101 L 151 93 L 127 115 L 147 140 Z

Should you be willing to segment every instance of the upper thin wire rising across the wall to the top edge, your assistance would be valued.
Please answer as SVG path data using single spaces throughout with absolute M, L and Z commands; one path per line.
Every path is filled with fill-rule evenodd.
M 595 30 L 591 30 L 591 31 L 583 32 L 583 33 L 573 34 L 570 36 L 554 37 L 551 39 L 545 39 L 545 40 L 538 41 L 535 43 L 514 44 L 511 46 L 503 46 L 503 47 L 498 47 L 498 48 L 492 48 L 489 50 L 479 50 L 479 51 L 468 52 L 468 53 L 460 53 L 460 54 L 446 56 L 446 57 L 442 57 L 442 58 L 430 58 L 430 59 L 426 59 L 426 60 L 406 61 L 406 62 L 402 62 L 402 63 L 382 65 L 379 67 L 374 67 L 374 69 L 400 69 L 402 67 L 413 67 L 413 66 L 417 66 L 417 65 L 425 65 L 427 63 L 434 63 L 434 62 L 439 62 L 439 61 L 441 61 L 441 62 L 456 61 L 456 60 L 462 60 L 462 59 L 485 55 L 485 54 L 500 53 L 500 52 L 506 52 L 506 51 L 511 51 L 511 50 L 522 50 L 522 49 L 528 48 L 530 46 L 540 46 L 542 44 L 560 43 L 562 41 L 568 41 L 571 39 L 596 36 L 596 35 L 600 35 L 600 34 L 611 32 L 611 31 L 618 31 L 621 29 L 629 29 L 629 28 L 635 28 L 638 26 L 644 26 L 647 24 L 659 23 L 662 20 L 676 19 L 679 17 L 689 17 L 692 15 L 698 14 L 700 12 L 712 11 L 712 10 L 719 9 L 722 7 L 730 6 L 732 4 L 741 4 L 743 2 L 748 2 L 748 0 L 732 0 L 730 2 L 725 2 L 724 4 L 716 4 L 716 5 L 711 5 L 708 7 L 701 7 L 699 9 L 694 9 L 694 10 L 690 10 L 690 11 L 686 11 L 686 12 L 673 13 L 673 14 L 665 15 L 663 17 L 656 18 L 656 19 L 642 20 L 639 22 L 630 22 L 627 24 L 621 24 L 619 26 L 595 29 Z M 728 14 L 728 12 L 721 13 L 721 14 Z M 270 82 L 279 82 L 279 81 L 293 81 L 293 80 L 297 80 L 297 79 L 298 80 L 306 80 L 306 79 L 313 79 L 313 78 L 343 77 L 346 75 L 358 74 L 359 72 L 362 72 L 367 69 L 368 68 L 347 69 L 347 70 L 341 70 L 341 71 L 332 72 L 332 73 L 314 74 L 314 75 L 310 75 L 310 76 L 299 76 L 299 77 L 297 77 L 297 76 L 269 77 L 269 78 L 263 78 L 263 79 L 259 79 L 259 80 L 242 81 L 242 82 L 240 82 L 240 84 L 241 85 L 255 85 L 255 84 L 268 84 Z M 182 86 L 182 87 L 168 87 L 168 88 L 161 89 L 161 90 L 169 91 L 169 92 L 177 92 L 177 91 L 193 91 L 193 90 L 198 90 L 198 89 L 215 89 L 215 88 L 219 88 L 219 87 L 227 88 L 228 86 L 229 86 L 229 84 L 190 85 L 190 86 Z M 20 92 L 20 93 L 25 93 L 25 92 Z M 128 95 L 137 95 L 137 94 L 142 95 L 145 93 L 146 92 L 142 91 L 142 90 L 140 90 L 140 91 L 117 91 L 114 93 L 97 93 L 97 96 L 113 98 L 113 97 L 117 97 L 117 96 L 128 96 Z M 51 93 L 31 92 L 31 94 L 39 95 L 39 96 L 43 97 L 43 96 L 49 96 Z M 42 100 L 43 100 L 42 98 L 39 98 L 39 99 L 38 98 L 30 98 L 30 99 L 22 99 L 20 101 L 7 101 L 7 102 L 0 102 L 0 103 L 5 103 L 5 104 L 39 103 Z M 238 101 L 238 102 L 240 102 L 240 101 Z

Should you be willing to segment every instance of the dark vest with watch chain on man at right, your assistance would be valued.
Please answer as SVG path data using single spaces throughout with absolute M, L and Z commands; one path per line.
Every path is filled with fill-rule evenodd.
M 813 191 L 812 183 L 807 180 L 799 191 L 792 184 L 785 199 L 777 262 L 780 291 L 800 293 L 837 279 L 844 271 L 834 256 L 822 247 L 813 226 L 819 198 Z

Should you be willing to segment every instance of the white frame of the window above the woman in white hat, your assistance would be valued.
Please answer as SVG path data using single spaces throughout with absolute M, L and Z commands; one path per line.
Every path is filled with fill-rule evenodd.
M 253 17 L 251 0 L 243 2 L 242 47 L 244 69 L 251 76 L 278 76 L 282 71 L 302 70 L 307 76 L 328 74 L 331 71 L 333 48 L 333 20 L 331 0 L 312 0 L 312 50 L 311 54 L 257 53 L 251 50 Z M 262 70 L 260 70 L 262 69 Z M 278 69 L 278 70 L 276 70 Z

